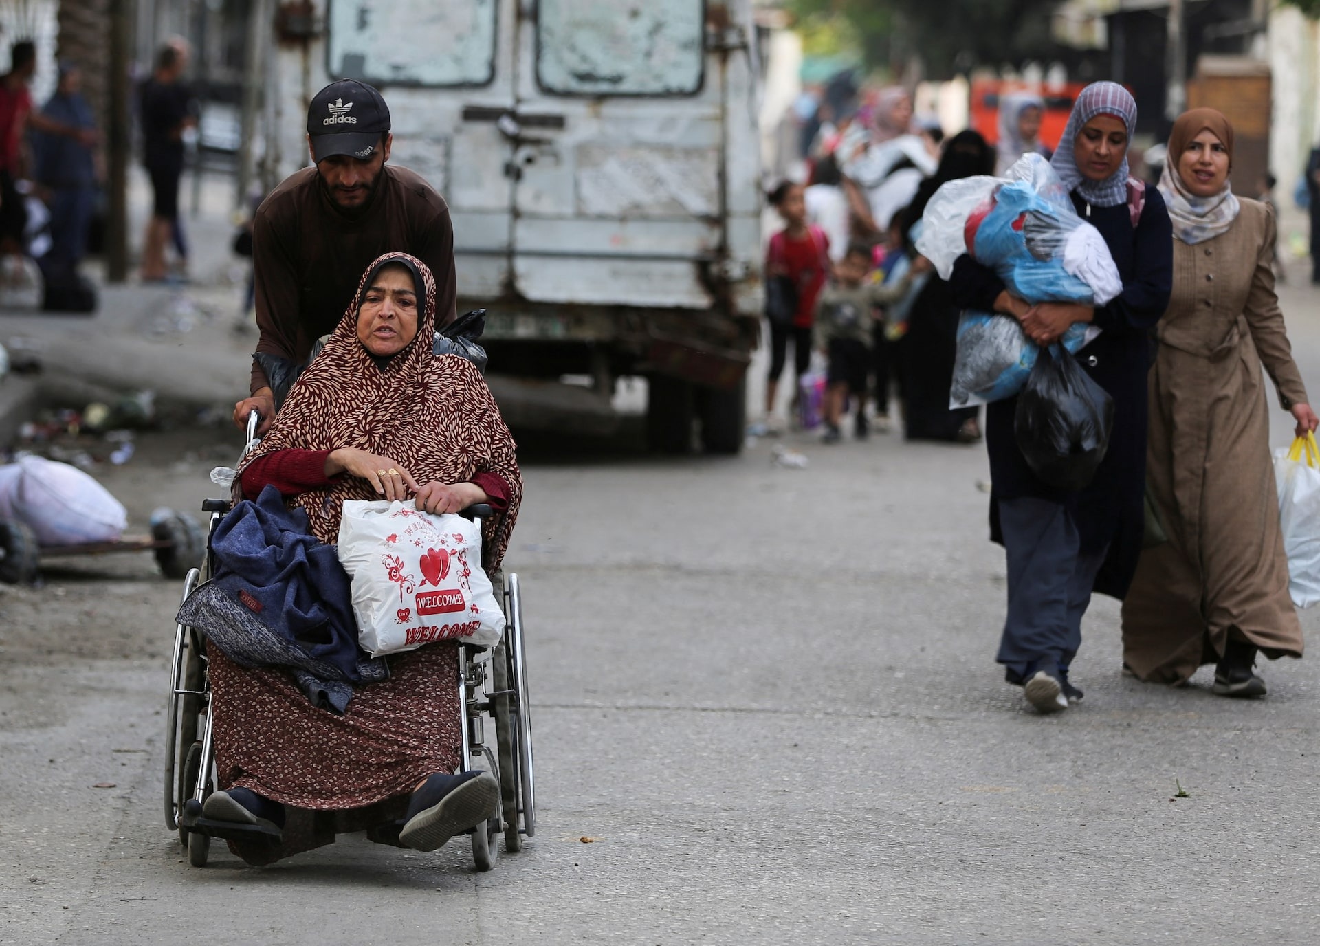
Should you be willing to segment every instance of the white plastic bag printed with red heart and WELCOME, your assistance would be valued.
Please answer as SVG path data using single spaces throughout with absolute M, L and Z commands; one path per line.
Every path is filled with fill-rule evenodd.
M 504 615 L 482 571 L 475 522 L 412 503 L 350 500 L 339 562 L 352 579 L 358 641 L 372 657 L 440 640 L 499 644 Z

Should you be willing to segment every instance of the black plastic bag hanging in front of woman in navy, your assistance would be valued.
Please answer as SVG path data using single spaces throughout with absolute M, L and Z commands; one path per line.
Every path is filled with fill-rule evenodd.
M 1057 344 L 1043 350 L 1018 396 L 1014 433 L 1027 466 L 1067 492 L 1096 476 L 1114 429 L 1114 398 Z

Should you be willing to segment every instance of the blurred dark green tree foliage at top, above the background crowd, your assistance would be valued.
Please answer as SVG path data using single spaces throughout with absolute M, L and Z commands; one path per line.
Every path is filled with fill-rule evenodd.
M 1294 0 L 1320 5 L 1320 0 Z M 900 67 L 913 53 L 932 78 L 1048 55 L 1057 0 L 788 0 L 801 20 L 841 17 L 866 62 Z

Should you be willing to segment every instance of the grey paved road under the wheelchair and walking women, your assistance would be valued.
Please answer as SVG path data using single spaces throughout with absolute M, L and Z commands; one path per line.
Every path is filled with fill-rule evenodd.
M 1286 296 L 1315 388 L 1317 298 Z M 983 454 L 795 443 L 809 468 L 527 459 L 540 830 L 486 875 L 358 836 L 190 868 L 160 811 L 177 588 L 131 555 L 0 592 L 0 942 L 1313 941 L 1320 661 L 1257 703 L 1142 685 L 1100 600 L 1086 702 L 1036 716 L 991 662 Z M 234 446 L 148 439 L 106 482 L 139 522 L 195 508 Z

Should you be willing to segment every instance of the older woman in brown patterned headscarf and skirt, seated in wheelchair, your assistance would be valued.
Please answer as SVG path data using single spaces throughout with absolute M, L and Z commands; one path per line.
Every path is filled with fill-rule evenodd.
M 430 270 L 404 253 L 378 259 L 240 464 L 243 496 L 276 486 L 327 544 L 345 500 L 413 500 L 434 513 L 487 503 L 496 515 L 483 563 L 498 567 L 521 497 L 513 439 L 471 363 L 413 344 L 429 342 L 434 321 Z M 244 668 L 216 646 L 209 657 L 223 790 L 203 817 L 267 831 L 267 844 L 235 843 L 246 860 L 400 821 L 403 844 L 432 851 L 498 811 L 490 773 L 453 774 L 462 747 L 455 643 L 391 657 L 388 679 L 358 686 L 343 715 L 313 706 L 285 669 Z

